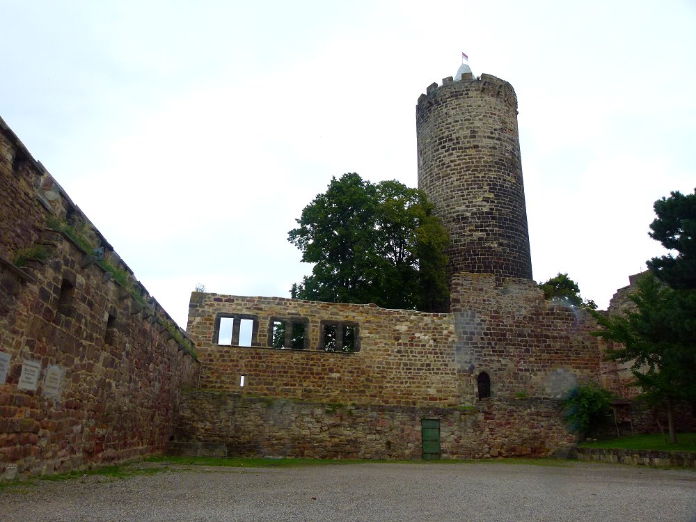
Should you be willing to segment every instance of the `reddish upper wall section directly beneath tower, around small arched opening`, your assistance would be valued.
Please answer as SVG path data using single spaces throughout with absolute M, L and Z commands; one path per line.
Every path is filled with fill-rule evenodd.
M 598 326 L 582 308 L 544 300 L 533 281 L 497 281 L 493 275 L 459 274 L 453 281 L 461 379 L 473 387 L 491 376 L 493 397 L 559 398 L 578 383 L 596 382 L 626 396 L 606 343 L 590 335 Z

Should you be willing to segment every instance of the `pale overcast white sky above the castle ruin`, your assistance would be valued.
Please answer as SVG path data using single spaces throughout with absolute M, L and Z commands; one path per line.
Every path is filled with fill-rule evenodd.
M 696 187 L 696 2 L 0 0 L 0 116 L 182 326 L 190 292 L 288 296 L 331 176 L 417 184 L 415 107 L 509 81 L 537 281 L 606 308 Z

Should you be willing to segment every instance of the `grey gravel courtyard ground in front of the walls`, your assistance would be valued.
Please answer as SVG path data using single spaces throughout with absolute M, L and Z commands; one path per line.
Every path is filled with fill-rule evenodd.
M 170 466 L 0 490 L 2 522 L 435 520 L 692 522 L 696 473 L 581 463 Z

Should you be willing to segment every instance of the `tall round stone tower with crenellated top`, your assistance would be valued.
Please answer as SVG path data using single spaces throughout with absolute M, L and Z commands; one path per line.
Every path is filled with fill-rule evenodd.
M 507 81 L 468 71 L 418 98 L 418 188 L 450 232 L 450 280 L 531 279 L 517 97 Z

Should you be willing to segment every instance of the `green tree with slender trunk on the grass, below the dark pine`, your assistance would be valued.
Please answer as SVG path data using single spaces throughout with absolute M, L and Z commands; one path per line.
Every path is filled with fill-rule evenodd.
M 594 335 L 612 341 L 607 358 L 631 364 L 635 385 L 651 404 L 667 407 L 670 440 L 677 443 L 673 407 L 696 400 L 696 292 L 679 291 L 646 273 L 631 294 L 635 309 L 594 317 L 602 330 Z

